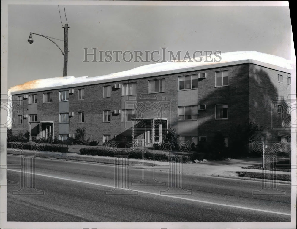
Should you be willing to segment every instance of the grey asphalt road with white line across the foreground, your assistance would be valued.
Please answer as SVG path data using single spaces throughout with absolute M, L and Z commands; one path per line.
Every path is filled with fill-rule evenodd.
M 7 221 L 34 222 L 290 222 L 291 187 L 141 169 L 35 159 L 34 188 L 21 188 L 20 156 L 8 155 Z M 16 165 L 16 166 L 15 166 Z M 115 176 L 115 170 L 118 176 Z M 129 173 L 129 182 L 125 178 Z M 171 171 L 172 172 L 172 171 Z M 28 177 L 28 176 L 27 176 Z M 31 184 L 31 183 L 30 183 Z M 173 188 L 170 189 L 170 184 Z M 182 185 L 181 185 L 182 184 Z M 32 184 L 31 184 L 32 185 Z M 125 187 L 125 185 L 128 185 Z M 174 186 L 177 188 L 174 188 Z M 115 189 L 116 187 L 119 187 Z M 26 187 L 26 185 L 25 185 Z M 122 187 L 122 188 L 121 188 Z M 37 192 L 36 190 L 42 191 Z M 164 192 L 165 191 L 165 192 Z M 282 192 L 281 192 L 282 191 Z M 161 192 L 161 194 L 160 194 Z M 265 194 L 266 195 L 263 195 Z M 271 195 L 274 194 L 274 195 Z

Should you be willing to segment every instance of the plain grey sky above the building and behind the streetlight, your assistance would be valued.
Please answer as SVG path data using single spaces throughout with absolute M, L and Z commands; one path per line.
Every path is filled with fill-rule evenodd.
M 219 2 L 220 6 L 214 2 L 196 1 L 182 3 L 187 6 L 176 5 L 178 2 L 173 1 L 163 2 L 166 5 L 156 5 L 160 3 L 154 1 L 33 3 L 8 2 L 8 88 L 35 79 L 63 76 L 63 55 L 58 47 L 34 34 L 33 44 L 27 40 L 30 32 L 63 40 L 62 24 L 66 23 L 66 17 L 70 27 L 67 76 L 102 76 L 157 63 L 162 59 L 168 61 L 169 51 L 174 55 L 180 51 L 181 59 L 186 52 L 192 57 L 195 51 L 201 51 L 203 55 L 205 51 L 257 51 L 291 59 L 290 11 L 288 6 L 279 5 L 284 2 L 265 3 L 274 6 L 247 6 L 252 2 L 242 2 L 243 6 L 228 6 L 231 3 L 224 1 Z M 64 49 L 63 41 L 53 41 Z M 92 47 L 96 48 L 97 61 L 92 61 L 90 55 L 87 56 L 88 61 L 84 61 L 84 48 L 89 48 L 87 52 L 91 53 Z M 102 51 L 101 62 L 98 61 L 99 51 Z M 106 57 L 106 51 L 114 51 L 112 58 Z M 118 52 L 116 61 L 116 51 L 126 51 L 124 59 Z M 135 51 L 143 52 L 142 59 L 147 61 L 142 62 L 138 58 L 135 62 Z M 149 53 L 147 59 L 145 51 Z M 153 51 L 156 52 L 151 58 Z M 129 61 L 130 52 L 132 61 Z M 154 61 L 158 58 L 160 61 Z

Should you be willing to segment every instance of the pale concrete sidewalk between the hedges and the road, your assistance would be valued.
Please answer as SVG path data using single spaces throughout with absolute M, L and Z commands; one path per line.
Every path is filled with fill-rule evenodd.
M 25 150 L 24 150 L 25 151 Z M 30 151 L 30 150 L 28 150 Z M 104 157 L 104 156 L 92 156 L 92 155 L 82 155 L 80 153 L 59 153 L 59 152 L 40 152 L 47 155 L 56 155 L 56 156 L 66 156 L 66 157 L 89 157 L 89 158 L 108 158 L 112 159 L 113 157 Z M 129 161 L 140 162 L 138 165 L 130 167 L 138 167 L 143 169 L 157 169 L 159 171 L 168 171 L 169 162 L 162 161 L 152 161 L 152 160 L 142 160 L 142 159 L 130 159 Z M 144 162 L 152 163 L 152 165 L 142 165 Z M 103 162 L 104 163 L 104 162 Z M 247 167 L 251 165 L 261 165 L 262 158 L 244 158 L 244 159 L 228 159 L 221 161 L 206 161 L 200 163 L 189 163 L 182 164 L 182 173 L 184 174 L 193 174 L 193 175 L 203 175 L 203 176 L 216 176 L 216 177 L 233 177 L 240 179 L 254 179 L 247 177 L 238 177 L 236 171 L 246 171 L 246 172 L 271 172 L 268 170 L 262 169 L 243 169 L 241 167 Z M 284 171 L 274 171 L 276 174 L 290 174 L 291 172 Z M 256 179 L 256 178 L 255 178 Z

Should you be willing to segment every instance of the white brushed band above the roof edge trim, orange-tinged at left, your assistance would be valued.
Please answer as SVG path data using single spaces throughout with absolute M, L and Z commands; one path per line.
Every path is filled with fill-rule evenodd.
M 219 54 L 217 54 L 219 55 Z M 195 67 L 203 67 L 207 65 L 214 65 L 218 63 L 228 63 L 240 60 L 256 60 L 263 63 L 275 65 L 281 68 L 285 68 L 288 70 L 293 69 L 291 67 L 291 62 L 286 60 L 282 57 L 256 52 L 256 51 L 240 51 L 240 52 L 226 52 L 219 55 L 222 59 L 219 62 L 205 62 L 205 56 L 201 57 L 202 61 L 197 62 L 200 60 L 200 57 L 196 57 L 196 61 L 191 59 L 192 61 L 186 60 L 185 62 L 180 61 L 171 61 L 171 62 L 161 62 L 161 63 L 154 63 L 149 65 L 140 66 L 137 68 L 133 68 L 131 70 L 112 73 L 103 76 L 96 76 L 96 77 L 88 77 L 88 76 L 81 76 L 81 77 L 74 77 L 74 76 L 66 76 L 66 77 L 55 77 L 55 78 L 48 78 L 48 79 L 37 79 L 33 81 L 26 82 L 25 84 L 17 85 L 11 87 L 8 90 L 8 94 L 10 95 L 11 92 L 18 92 L 24 91 L 29 89 L 40 89 L 40 88 L 49 88 L 49 87 L 57 87 L 62 85 L 71 85 L 71 84 L 78 84 L 78 83 L 86 83 L 86 82 L 94 82 L 94 81 L 104 81 L 107 79 L 114 79 L 114 81 L 120 80 L 122 77 L 127 76 L 140 76 L 143 74 L 152 74 L 152 73 L 160 73 L 169 72 L 169 71 L 178 71 L 188 68 L 195 68 Z M 210 57 L 207 57 L 208 60 L 215 58 L 218 60 L 217 56 L 212 54 Z M 141 76 L 140 76 L 141 77 Z

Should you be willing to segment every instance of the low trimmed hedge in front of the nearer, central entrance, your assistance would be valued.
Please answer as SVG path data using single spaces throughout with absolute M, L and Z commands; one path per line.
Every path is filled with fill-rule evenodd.
M 79 150 L 83 155 L 97 155 L 108 157 L 120 157 L 129 154 L 129 158 L 134 159 L 148 159 L 156 161 L 168 161 L 168 155 L 165 153 L 153 153 L 148 150 L 130 150 L 119 148 L 82 148 Z M 183 163 L 191 161 L 190 156 L 183 156 Z

